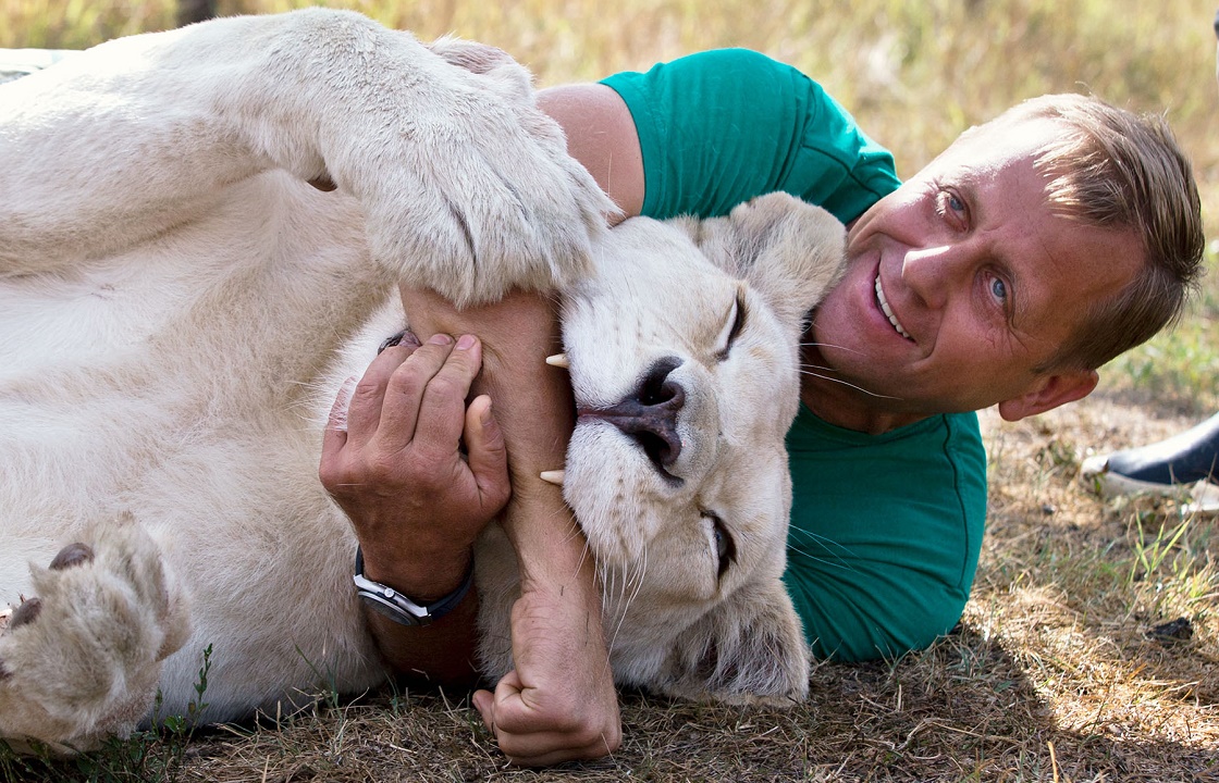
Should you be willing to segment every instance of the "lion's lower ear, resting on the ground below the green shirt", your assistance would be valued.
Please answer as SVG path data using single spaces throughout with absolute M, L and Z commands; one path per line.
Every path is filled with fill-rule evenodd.
M 778 578 L 744 585 L 669 649 L 667 695 L 790 706 L 808 695 L 809 651 Z

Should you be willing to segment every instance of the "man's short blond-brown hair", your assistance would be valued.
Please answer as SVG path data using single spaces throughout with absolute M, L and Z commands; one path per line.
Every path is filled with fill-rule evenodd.
M 1043 95 L 993 123 L 1050 119 L 1061 135 L 1041 150 L 1046 196 L 1064 217 L 1134 230 L 1143 265 L 1117 295 L 1091 304 L 1042 367 L 1096 369 L 1180 318 L 1201 274 L 1202 206 L 1189 158 L 1157 114 L 1135 114 L 1092 96 Z

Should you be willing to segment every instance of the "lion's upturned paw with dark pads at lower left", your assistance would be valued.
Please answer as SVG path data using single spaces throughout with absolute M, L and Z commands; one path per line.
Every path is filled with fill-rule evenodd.
M 189 633 L 160 547 L 124 519 L 30 571 L 35 595 L 0 628 L 0 738 L 83 750 L 126 736 Z

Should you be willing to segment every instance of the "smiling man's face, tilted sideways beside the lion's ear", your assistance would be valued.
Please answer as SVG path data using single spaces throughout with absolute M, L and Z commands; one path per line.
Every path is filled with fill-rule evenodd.
M 914 415 L 1003 403 L 1014 420 L 1091 391 L 1095 373 L 1036 368 L 1089 304 L 1126 285 L 1142 251 L 1131 230 L 1051 211 L 1034 160 L 1057 132 L 1043 119 L 980 128 L 857 220 L 808 359 L 867 393 L 813 380 L 813 397 Z

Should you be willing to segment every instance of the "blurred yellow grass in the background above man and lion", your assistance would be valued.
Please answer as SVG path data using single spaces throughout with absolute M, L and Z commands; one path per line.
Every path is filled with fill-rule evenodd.
M 222 13 L 302 0 L 218 0 Z M 913 172 L 968 125 L 1086 89 L 1167 112 L 1207 177 L 1219 121 L 1213 4 L 1201 0 L 329 0 L 421 38 L 505 47 L 541 84 L 748 46 L 820 79 Z M 80 47 L 173 24 L 172 0 L 0 0 L 0 46 Z

